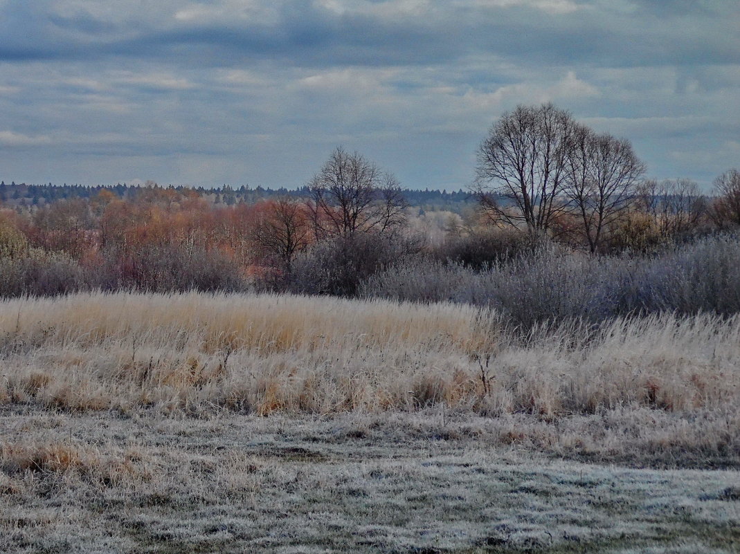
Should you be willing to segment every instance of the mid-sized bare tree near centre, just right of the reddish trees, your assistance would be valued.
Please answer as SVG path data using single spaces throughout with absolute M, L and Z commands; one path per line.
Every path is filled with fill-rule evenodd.
M 309 212 L 317 240 L 387 232 L 406 221 L 408 203 L 393 175 L 338 147 L 310 184 Z

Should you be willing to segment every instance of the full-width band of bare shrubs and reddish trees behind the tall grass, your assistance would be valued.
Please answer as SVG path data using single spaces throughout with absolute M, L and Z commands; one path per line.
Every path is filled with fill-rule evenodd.
M 337 163 L 390 185 L 370 183 L 354 197 L 332 189 Z M 224 206 L 193 190 L 152 187 L 132 200 L 102 190 L 33 209 L 0 207 L 0 296 L 266 290 L 452 300 L 494 308 L 522 328 L 574 317 L 740 313 L 736 172 L 722 175 L 709 199 L 679 181 L 645 183 L 594 254 L 567 217 L 547 234 L 491 226 L 472 213 L 443 223 L 409 210 L 392 176 L 357 154 L 337 150 L 322 172 L 314 203 Z M 358 205 L 371 211 L 351 212 Z M 428 229 L 430 221 L 438 227 Z

